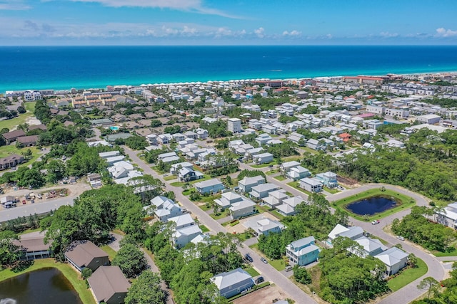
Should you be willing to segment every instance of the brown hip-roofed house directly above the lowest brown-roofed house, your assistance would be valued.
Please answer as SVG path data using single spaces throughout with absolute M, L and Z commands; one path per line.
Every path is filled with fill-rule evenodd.
M 109 265 L 108 253 L 91 241 L 74 241 L 64 253 L 65 260 L 78 271 L 90 268 L 95 271 L 99 266 Z

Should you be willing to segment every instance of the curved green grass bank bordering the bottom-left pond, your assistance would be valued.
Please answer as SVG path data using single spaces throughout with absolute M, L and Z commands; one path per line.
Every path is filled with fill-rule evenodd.
M 57 268 L 59 271 L 61 271 L 61 273 L 64 274 L 64 276 L 70 281 L 71 285 L 73 285 L 74 289 L 79 294 L 79 298 L 81 298 L 81 301 L 84 304 L 95 304 L 91 290 L 86 287 L 86 282 L 80 278 L 79 273 L 77 273 L 74 268 L 71 268 L 69 264 L 56 262 L 54 258 L 43 258 L 35 260 L 32 266 L 24 271 L 19 271 L 18 273 L 14 273 L 9 269 L 4 269 L 0 271 L 0 281 L 4 281 L 7 278 L 13 278 L 14 276 L 19 276 L 22 273 L 29 271 L 36 271 L 41 268 L 49 267 Z

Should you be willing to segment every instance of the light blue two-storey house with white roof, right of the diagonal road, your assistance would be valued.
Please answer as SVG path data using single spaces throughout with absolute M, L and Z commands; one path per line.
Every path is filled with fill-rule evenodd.
M 314 236 L 293 241 L 286 246 L 286 256 L 291 265 L 308 265 L 317 261 L 319 248 L 316 246 Z

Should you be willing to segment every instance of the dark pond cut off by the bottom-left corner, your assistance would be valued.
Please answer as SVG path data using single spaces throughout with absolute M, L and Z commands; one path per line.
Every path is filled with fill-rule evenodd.
M 43 268 L 0 282 L 0 304 L 82 304 L 57 268 Z

